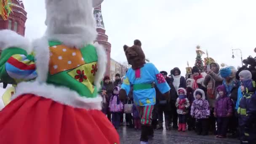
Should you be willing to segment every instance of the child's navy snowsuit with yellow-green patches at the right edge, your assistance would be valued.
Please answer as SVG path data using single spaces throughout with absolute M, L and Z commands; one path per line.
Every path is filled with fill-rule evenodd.
M 239 125 L 251 127 L 256 116 L 256 85 L 253 80 L 243 81 L 245 92 L 243 97 L 240 99 L 237 113 L 239 115 Z

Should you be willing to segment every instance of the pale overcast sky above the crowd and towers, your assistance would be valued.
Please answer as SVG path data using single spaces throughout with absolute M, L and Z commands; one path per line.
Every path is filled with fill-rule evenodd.
M 23 0 L 27 11 L 26 37 L 45 32 L 44 0 Z M 123 45 L 139 39 L 146 57 L 159 70 L 195 63 L 195 47 L 208 50 L 218 63 L 237 67 L 256 55 L 256 0 L 104 0 L 102 14 L 112 44 L 111 57 L 126 61 Z M 205 57 L 205 56 L 203 56 Z

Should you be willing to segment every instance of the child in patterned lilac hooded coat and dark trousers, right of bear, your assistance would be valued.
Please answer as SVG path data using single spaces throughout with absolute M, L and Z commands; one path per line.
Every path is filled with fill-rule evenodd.
M 210 116 L 210 106 L 205 100 L 205 93 L 201 89 L 194 92 L 195 100 L 191 106 L 191 116 L 196 118 L 196 132 L 198 135 L 208 135 L 208 119 Z

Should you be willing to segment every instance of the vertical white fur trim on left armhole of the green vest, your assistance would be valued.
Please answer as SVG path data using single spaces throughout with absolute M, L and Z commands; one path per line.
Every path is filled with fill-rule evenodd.
M 33 42 L 35 51 L 35 64 L 37 67 L 37 78 L 39 82 L 45 82 L 48 77 L 50 50 L 48 41 L 45 37 L 37 39 Z

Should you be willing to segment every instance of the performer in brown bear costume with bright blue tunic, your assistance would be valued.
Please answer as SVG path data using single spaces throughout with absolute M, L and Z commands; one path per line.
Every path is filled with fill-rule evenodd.
M 170 87 L 165 78 L 154 64 L 145 63 L 145 54 L 141 48 L 141 41 L 134 40 L 134 45 L 123 46 L 125 56 L 131 68 L 125 75 L 125 80 L 119 93 L 120 99 L 125 99 L 131 85 L 133 86 L 133 100 L 141 116 L 141 144 L 148 144 L 148 139 L 153 136 L 152 110 L 156 102 L 154 85 L 168 99 Z M 155 83 L 155 84 L 154 84 Z

